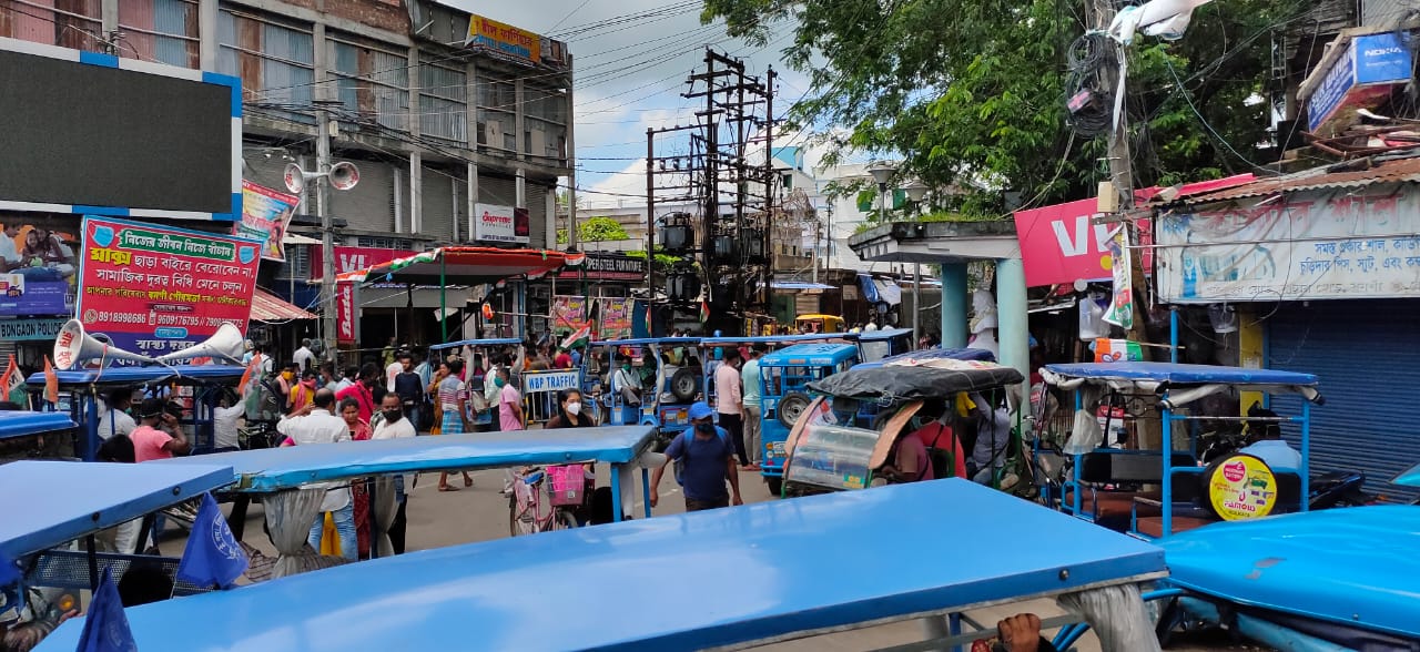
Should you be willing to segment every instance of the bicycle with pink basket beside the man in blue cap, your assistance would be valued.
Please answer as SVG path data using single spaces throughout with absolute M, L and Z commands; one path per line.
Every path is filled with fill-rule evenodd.
M 544 486 L 547 487 L 547 511 L 542 511 Z M 582 464 L 550 466 L 545 470 L 538 467 L 508 469 L 508 480 L 503 486 L 503 494 L 508 497 L 510 536 L 571 530 L 581 527 L 574 510 L 586 500 L 586 479 Z

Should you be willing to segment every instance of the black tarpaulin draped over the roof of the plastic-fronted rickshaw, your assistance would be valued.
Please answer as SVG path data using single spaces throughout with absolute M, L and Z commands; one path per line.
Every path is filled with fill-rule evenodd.
M 958 369 L 933 366 L 885 365 L 855 366 L 834 374 L 808 388 L 831 396 L 861 399 L 929 399 L 947 398 L 957 392 L 974 392 L 1021 382 L 1021 372 L 990 362 L 967 362 Z

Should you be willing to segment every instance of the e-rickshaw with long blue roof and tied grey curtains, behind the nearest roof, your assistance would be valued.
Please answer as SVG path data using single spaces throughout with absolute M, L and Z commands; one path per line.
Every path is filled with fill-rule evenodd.
M 388 527 L 393 523 L 395 476 L 430 472 L 467 472 L 547 464 L 609 463 L 612 467 L 612 518 L 621 520 L 622 506 L 633 483 L 633 467 L 655 443 L 648 426 L 601 426 L 562 430 L 487 432 L 437 438 L 338 442 L 318 446 L 239 450 L 179 457 L 146 464 L 223 464 L 230 469 L 229 493 L 236 494 L 229 523 L 237 540 L 244 534 L 247 506 L 261 500 L 267 528 L 278 544 L 273 577 L 339 564 L 315 555 L 305 544 L 311 523 L 320 516 L 324 487 L 311 483 L 365 480 L 369 491 L 372 557 L 393 554 Z M 650 516 L 650 486 L 642 469 L 642 501 Z M 298 528 L 300 537 L 281 533 Z M 288 548 L 280 544 L 290 543 Z

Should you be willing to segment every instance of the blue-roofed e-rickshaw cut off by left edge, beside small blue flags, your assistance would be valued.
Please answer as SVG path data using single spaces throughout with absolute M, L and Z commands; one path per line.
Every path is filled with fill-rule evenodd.
M 48 430 L 50 415 L 4 413 L 0 423 L 13 429 L 31 420 Z M 92 591 L 105 568 L 112 571 L 115 581 L 135 563 L 158 565 L 172 575 L 178 558 L 142 555 L 133 550 L 104 553 L 98 533 L 135 518 L 143 518 L 146 531 L 155 513 L 229 482 L 231 467 L 196 460 L 182 466 L 38 460 L 0 466 L 0 493 L 24 500 L 23 509 L 6 510 L 6 517 L 0 518 L 0 558 L 20 567 L 27 602 L 23 611 L 53 622 L 60 614 L 80 607 L 81 591 Z M 178 581 L 173 595 L 209 588 Z M 9 611 L 7 607 L 16 605 L 0 607 L 0 612 Z

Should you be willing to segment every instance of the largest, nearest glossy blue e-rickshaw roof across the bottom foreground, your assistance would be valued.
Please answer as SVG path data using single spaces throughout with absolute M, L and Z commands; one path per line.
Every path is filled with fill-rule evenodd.
M 1154 545 L 949 479 L 425 550 L 125 615 L 143 652 L 704 649 L 1163 574 Z M 646 601 L 663 616 L 636 615 Z M 82 626 L 40 649 L 72 651 Z

